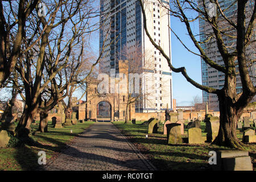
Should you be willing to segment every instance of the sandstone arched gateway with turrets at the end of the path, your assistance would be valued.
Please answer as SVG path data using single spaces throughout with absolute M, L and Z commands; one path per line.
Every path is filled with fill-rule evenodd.
M 127 60 L 119 60 L 119 73 L 128 74 Z M 79 115 L 79 119 L 90 119 L 93 121 L 121 120 L 125 119 L 127 93 L 98 93 L 100 80 L 90 77 L 87 81 L 86 104 L 79 106 L 79 111 L 85 113 Z M 115 84 L 117 81 L 115 81 Z M 109 86 L 110 90 L 110 86 Z M 129 116 L 135 113 L 135 106 L 129 107 Z M 131 120 L 131 118 L 129 118 Z

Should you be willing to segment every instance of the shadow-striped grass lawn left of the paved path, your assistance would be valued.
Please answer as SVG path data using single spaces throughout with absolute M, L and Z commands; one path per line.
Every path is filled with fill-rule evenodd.
M 39 122 L 36 122 L 39 123 Z M 48 123 L 48 133 L 39 133 L 32 138 L 40 143 L 39 146 L 20 146 L 0 148 L 0 171 L 9 170 L 35 170 L 38 164 L 38 152 L 45 151 L 47 162 L 67 147 L 78 134 L 82 133 L 86 128 L 94 122 L 77 123 L 77 125 L 65 126 L 61 129 L 52 127 L 51 122 Z M 35 131 L 39 125 L 31 125 Z M 71 133 L 72 130 L 72 133 Z

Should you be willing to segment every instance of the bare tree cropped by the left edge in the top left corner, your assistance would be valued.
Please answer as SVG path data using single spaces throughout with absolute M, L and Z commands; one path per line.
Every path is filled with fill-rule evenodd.
M 28 17 L 38 0 L 0 1 L 0 87 L 13 72 Z

